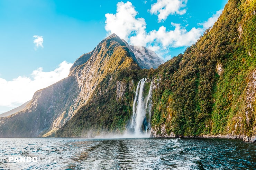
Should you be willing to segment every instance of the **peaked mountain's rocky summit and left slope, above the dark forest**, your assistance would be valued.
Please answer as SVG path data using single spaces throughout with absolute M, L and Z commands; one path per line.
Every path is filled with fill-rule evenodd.
M 1 118 L 0 137 L 52 136 L 93 98 L 97 88 L 98 94 L 109 91 L 107 84 L 99 88 L 106 78 L 115 82 L 116 99 L 124 100 L 125 84 L 117 81 L 117 73 L 138 69 L 138 61 L 127 43 L 112 34 L 77 59 L 66 79 L 37 91 L 25 110 Z

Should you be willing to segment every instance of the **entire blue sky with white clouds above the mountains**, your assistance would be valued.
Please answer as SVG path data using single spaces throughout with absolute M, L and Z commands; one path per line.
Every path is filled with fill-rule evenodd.
M 110 33 L 147 46 L 165 60 L 183 53 L 213 24 L 226 3 L 1 0 L 0 113 L 66 77 L 72 63 Z

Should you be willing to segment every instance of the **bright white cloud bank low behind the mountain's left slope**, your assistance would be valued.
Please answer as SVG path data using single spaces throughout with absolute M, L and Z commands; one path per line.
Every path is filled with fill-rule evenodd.
M 54 71 L 38 68 L 29 77 L 19 76 L 12 81 L 0 78 L 0 106 L 17 107 L 31 100 L 37 90 L 66 78 L 71 66 L 72 63 L 63 61 Z

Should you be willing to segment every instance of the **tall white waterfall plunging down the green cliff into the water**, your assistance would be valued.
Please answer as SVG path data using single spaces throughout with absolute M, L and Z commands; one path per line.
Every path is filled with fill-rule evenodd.
M 141 133 L 147 133 L 148 129 L 151 129 L 150 119 L 151 119 L 151 107 L 152 107 L 152 84 L 150 83 L 150 88 L 147 96 L 143 97 L 143 90 L 146 78 L 140 79 L 138 82 L 135 97 L 132 106 L 132 121 L 131 129 L 134 130 L 136 135 Z

